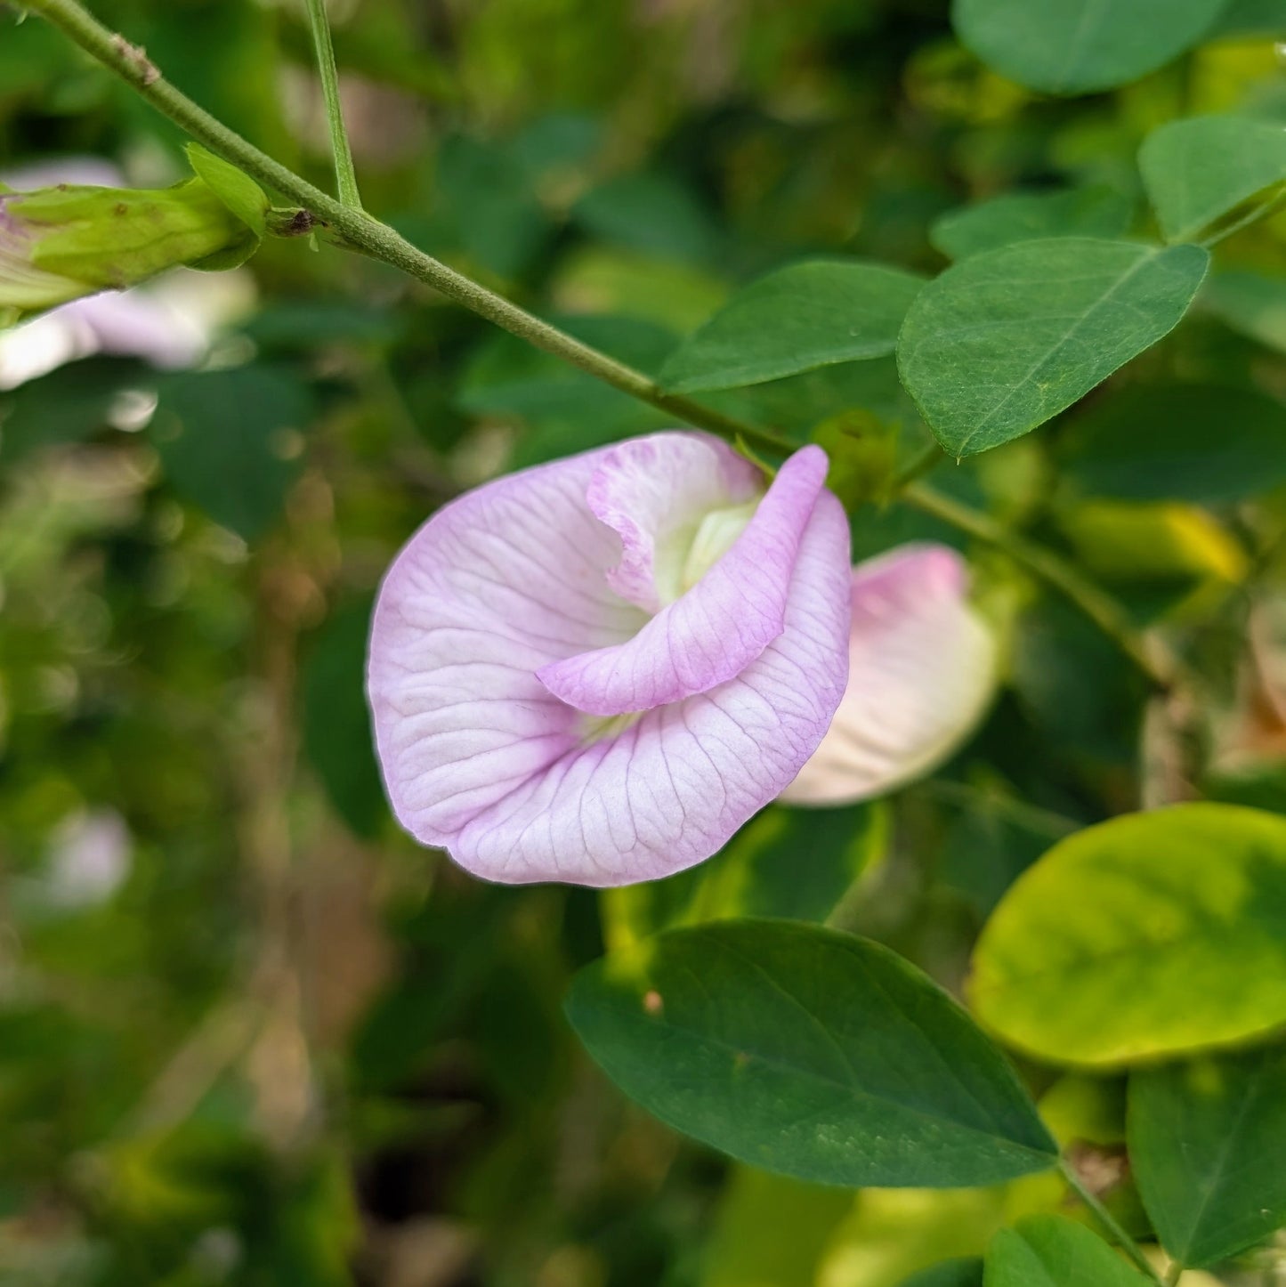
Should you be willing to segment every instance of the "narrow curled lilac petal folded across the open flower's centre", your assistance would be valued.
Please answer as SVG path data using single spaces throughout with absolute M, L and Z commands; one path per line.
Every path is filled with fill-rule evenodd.
M 784 629 L 790 569 L 825 480 L 821 448 L 796 452 L 745 530 L 687 593 L 628 641 L 542 667 L 542 682 L 581 710 L 618 716 L 740 674 Z

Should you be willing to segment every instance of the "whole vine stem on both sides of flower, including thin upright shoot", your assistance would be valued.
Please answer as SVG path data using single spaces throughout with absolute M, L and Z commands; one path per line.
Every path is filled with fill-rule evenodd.
M 386 224 L 372 219 L 359 203 L 348 138 L 340 113 L 337 77 L 326 24 L 323 0 L 308 0 L 314 41 L 327 104 L 327 120 L 336 158 L 341 199 L 328 196 L 288 170 L 248 139 L 211 116 L 171 85 L 147 53 L 124 36 L 104 27 L 77 0 L 22 0 L 23 6 L 51 22 L 104 67 L 127 81 L 153 107 L 230 165 L 264 187 L 301 206 L 331 241 L 400 269 L 447 299 L 487 318 L 537 349 L 551 353 L 596 376 L 622 393 L 675 416 L 684 423 L 718 434 L 734 443 L 774 456 L 787 456 L 797 444 L 767 429 L 748 425 L 691 398 L 669 394 L 633 367 L 550 326 L 503 296 L 457 273 L 440 260 L 417 250 Z M 932 462 L 929 462 L 932 463 Z M 917 472 L 922 472 L 918 470 Z M 976 539 L 1004 550 L 1027 571 L 1050 584 L 1075 604 L 1157 689 L 1171 689 L 1182 678 L 1179 662 L 1159 645 L 1146 641 L 1133 627 L 1125 609 L 1106 591 L 1086 580 L 1071 564 L 1052 551 L 1023 539 L 990 517 L 960 505 L 922 481 L 901 480 L 900 495 L 909 505 L 967 532 Z

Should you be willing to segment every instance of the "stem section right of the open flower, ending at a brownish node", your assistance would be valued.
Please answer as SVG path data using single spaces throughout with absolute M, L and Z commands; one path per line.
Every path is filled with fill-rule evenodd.
M 931 514 L 935 519 L 941 519 L 953 528 L 959 528 L 960 532 L 1003 550 L 1014 562 L 1047 582 L 1075 604 L 1156 687 L 1164 691 L 1179 682 L 1183 667 L 1178 658 L 1159 641 L 1152 641 L 1150 646 L 1116 598 L 1092 580 L 1086 580 L 1053 551 L 1027 541 L 989 515 L 972 510 L 923 483 L 908 486 L 902 492 L 902 499 L 924 514 Z

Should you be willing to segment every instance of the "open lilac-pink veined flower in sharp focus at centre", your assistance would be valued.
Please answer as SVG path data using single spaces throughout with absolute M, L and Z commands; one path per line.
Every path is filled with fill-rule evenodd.
M 821 741 L 848 524 L 806 447 L 765 493 L 704 434 L 499 479 L 412 537 L 369 696 L 398 820 L 503 882 L 627 884 L 714 853 Z

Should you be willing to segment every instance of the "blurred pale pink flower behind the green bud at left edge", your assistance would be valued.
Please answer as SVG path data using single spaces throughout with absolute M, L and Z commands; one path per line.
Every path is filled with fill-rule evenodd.
M 0 174 L 26 192 L 61 183 L 116 188 L 125 176 L 97 157 L 57 157 Z M 39 270 L 5 237 L 0 198 L 0 274 Z M 49 275 L 49 274 L 45 274 Z M 72 300 L 10 329 L 0 329 L 0 389 L 15 389 L 67 362 L 108 354 L 143 358 L 162 369 L 196 366 L 216 327 L 246 311 L 254 299 L 247 274 L 175 269 L 129 291 Z

